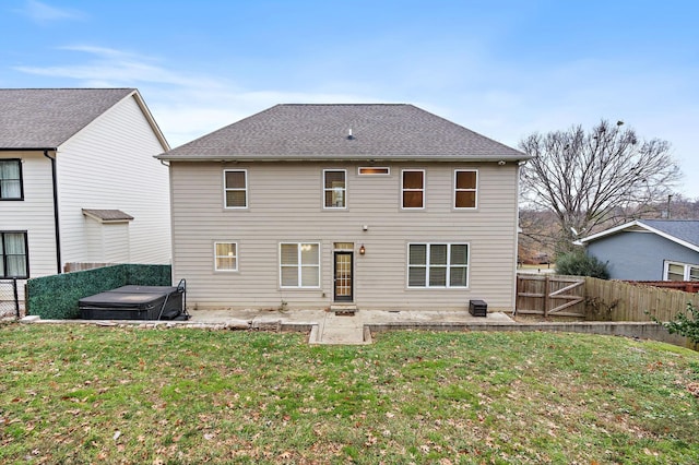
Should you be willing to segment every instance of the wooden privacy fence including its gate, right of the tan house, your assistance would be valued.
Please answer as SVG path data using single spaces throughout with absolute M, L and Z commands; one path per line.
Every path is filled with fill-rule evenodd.
M 699 294 L 564 275 L 517 276 L 517 313 L 574 317 L 593 321 L 673 320 L 687 303 L 699 307 Z

